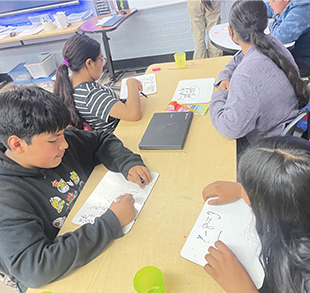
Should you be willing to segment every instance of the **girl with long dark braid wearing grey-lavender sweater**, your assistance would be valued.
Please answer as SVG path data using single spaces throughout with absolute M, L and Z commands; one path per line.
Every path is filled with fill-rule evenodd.
M 236 1 L 229 13 L 229 34 L 240 45 L 217 77 L 210 117 L 216 130 L 238 139 L 239 151 L 264 137 L 280 135 L 309 101 L 291 53 L 265 35 L 263 1 Z

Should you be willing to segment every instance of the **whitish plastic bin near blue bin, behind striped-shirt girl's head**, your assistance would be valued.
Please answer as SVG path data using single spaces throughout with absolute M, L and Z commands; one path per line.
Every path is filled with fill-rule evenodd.
M 25 64 L 34 79 L 49 77 L 56 70 L 54 55 L 42 53 Z

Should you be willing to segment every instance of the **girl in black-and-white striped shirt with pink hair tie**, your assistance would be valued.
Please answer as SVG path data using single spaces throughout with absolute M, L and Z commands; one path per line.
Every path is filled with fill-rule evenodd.
M 127 80 L 126 102 L 120 100 L 111 88 L 96 82 L 105 65 L 96 40 L 84 34 L 74 34 L 66 41 L 62 54 L 64 61 L 57 68 L 54 93 L 70 111 L 71 125 L 83 129 L 86 122 L 94 130 L 113 132 L 120 119 L 141 119 L 140 81 Z

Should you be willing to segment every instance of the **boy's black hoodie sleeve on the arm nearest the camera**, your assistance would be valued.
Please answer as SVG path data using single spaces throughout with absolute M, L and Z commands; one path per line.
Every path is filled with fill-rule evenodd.
M 107 210 L 93 225 L 48 239 L 42 219 L 18 195 L 23 193 L 25 190 L 15 189 L 9 199 L 1 198 L 0 259 L 8 270 L 5 273 L 27 287 L 66 276 L 97 257 L 112 239 L 123 236 L 117 217 Z

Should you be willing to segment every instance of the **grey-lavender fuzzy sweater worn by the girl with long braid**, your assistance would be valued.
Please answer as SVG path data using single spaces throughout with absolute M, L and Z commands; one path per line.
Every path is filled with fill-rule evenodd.
M 268 36 L 278 52 L 297 69 L 291 53 L 283 44 Z M 298 111 L 298 100 L 284 72 L 254 47 L 244 55 L 236 53 L 217 77 L 218 84 L 229 80 L 229 90 L 212 95 L 211 121 L 216 130 L 228 139 L 246 137 L 255 144 L 264 137 L 280 135 L 286 123 Z

